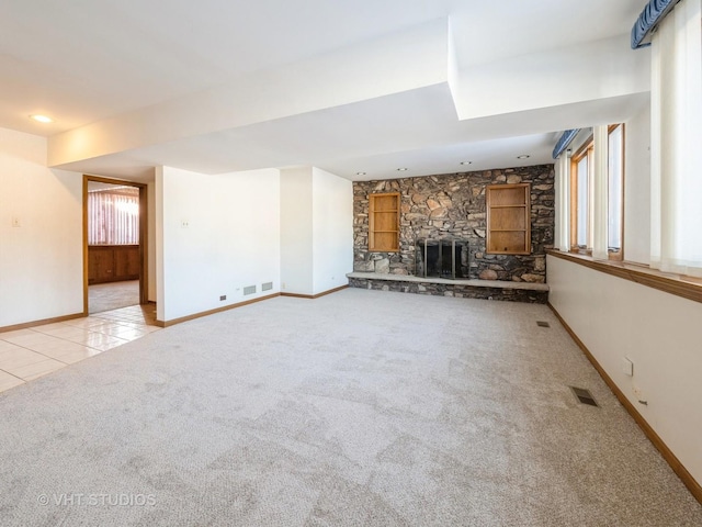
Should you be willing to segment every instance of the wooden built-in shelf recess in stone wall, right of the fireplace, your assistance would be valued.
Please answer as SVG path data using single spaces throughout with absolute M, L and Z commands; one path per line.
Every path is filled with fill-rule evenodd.
M 529 183 L 487 187 L 487 253 L 531 253 L 530 197 Z

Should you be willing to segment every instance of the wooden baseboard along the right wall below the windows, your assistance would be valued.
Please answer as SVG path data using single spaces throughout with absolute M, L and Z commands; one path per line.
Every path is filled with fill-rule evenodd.
M 690 493 L 692 493 L 692 495 L 697 498 L 697 501 L 700 502 L 700 504 L 702 504 L 702 485 L 700 485 L 700 483 L 697 482 L 697 480 L 692 476 L 692 474 L 688 472 L 688 469 L 686 469 L 684 466 L 680 462 L 680 460 L 676 457 L 676 455 L 672 453 L 672 450 L 668 448 L 668 446 L 664 442 L 660 436 L 656 434 L 656 430 L 654 430 L 653 427 L 648 424 L 648 422 L 646 422 L 644 416 L 638 413 L 638 411 L 632 404 L 632 402 L 629 399 L 626 399 L 624 393 L 614 383 L 614 381 L 607 373 L 607 371 L 604 371 L 604 369 L 600 366 L 600 363 L 597 361 L 597 359 L 590 352 L 587 346 L 582 343 L 582 340 L 580 340 L 580 338 L 575 334 L 575 332 L 570 328 L 570 326 L 566 323 L 566 321 L 563 319 L 563 317 L 556 311 L 556 309 L 553 305 L 551 305 L 551 302 L 548 302 L 547 305 L 548 307 L 551 307 L 551 311 L 553 311 L 554 315 L 556 315 L 556 318 L 561 321 L 561 324 L 563 324 L 563 327 L 565 327 L 566 332 L 568 332 L 570 337 L 573 337 L 573 340 L 575 340 L 575 344 L 578 345 L 578 347 L 582 350 L 582 352 L 588 358 L 588 360 L 592 363 L 592 366 L 598 371 L 602 380 L 607 383 L 608 386 L 610 386 L 610 390 L 612 390 L 614 395 L 616 395 L 616 399 L 619 399 L 619 402 L 622 403 L 622 406 L 626 408 L 629 414 L 634 418 L 636 424 L 644 431 L 648 440 L 650 440 L 650 442 L 654 444 L 654 447 L 658 449 L 658 451 L 664 457 L 664 459 L 668 462 L 668 464 L 673 470 L 673 472 L 678 474 L 678 478 L 680 478 L 680 480 L 682 480 L 682 483 L 684 483 L 684 486 L 688 487 Z

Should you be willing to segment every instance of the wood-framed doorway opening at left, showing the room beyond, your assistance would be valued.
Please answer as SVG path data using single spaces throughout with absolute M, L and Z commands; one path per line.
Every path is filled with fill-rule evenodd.
M 147 187 L 83 176 L 83 314 L 148 303 Z

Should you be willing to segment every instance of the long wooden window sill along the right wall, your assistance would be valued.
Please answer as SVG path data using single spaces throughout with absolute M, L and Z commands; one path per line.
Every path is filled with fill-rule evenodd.
M 702 302 L 702 279 L 661 272 L 641 264 L 615 260 L 596 260 L 591 256 L 562 253 L 550 249 L 546 254 L 563 260 L 568 260 L 596 271 L 605 272 L 613 277 L 641 283 L 666 293 L 682 296 L 693 302 Z

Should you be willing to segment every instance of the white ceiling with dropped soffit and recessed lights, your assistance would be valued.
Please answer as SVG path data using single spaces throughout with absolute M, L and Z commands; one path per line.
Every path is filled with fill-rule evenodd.
M 525 57 L 530 70 L 532 64 L 541 68 L 543 86 L 525 83 L 522 91 L 548 92 L 556 83 L 573 81 L 566 78 L 570 70 L 556 64 L 563 60 L 561 49 L 571 49 L 568 57 L 577 57 L 578 49 L 585 54 L 595 49 L 592 43 L 610 38 L 616 45 L 620 40 L 625 43 L 645 3 L 5 0 L 0 7 L 0 126 L 56 136 L 64 150 L 70 144 L 69 160 L 57 164 L 60 168 L 132 179 L 148 178 L 155 165 L 207 173 L 315 165 L 349 179 L 381 179 L 466 170 L 460 161 L 468 160 L 469 169 L 476 170 L 551 162 L 558 132 L 624 120 L 646 102 L 646 90 L 622 89 L 619 82 L 609 91 L 590 90 L 601 91 L 601 97 L 584 92 L 566 100 L 554 93 L 544 102 L 537 94 L 521 101 L 521 96 L 512 97 L 500 86 L 496 93 L 505 99 L 505 108 L 519 99 L 519 111 L 510 106 L 500 112 L 497 100 L 490 101 L 489 115 L 467 119 L 457 100 L 475 89 L 458 89 L 450 74 L 443 80 L 427 80 L 427 70 L 433 67 L 427 66 L 429 60 L 438 70 L 454 67 L 477 82 L 479 71 L 494 72 Z M 445 65 L 433 52 L 422 54 L 416 36 L 420 33 L 412 33 L 437 21 L 451 29 L 444 47 L 452 48 L 453 61 Z M 377 65 L 371 64 L 377 55 L 390 53 L 392 43 L 403 42 L 388 35 L 401 34 L 415 35 L 416 49 L 407 43 L 397 45 L 415 53 L 417 60 L 398 61 L 397 72 L 389 71 L 390 64 L 383 78 Z M 426 49 L 434 49 L 430 44 Z M 639 52 L 625 53 L 633 57 Z M 319 86 L 318 97 L 306 85 L 306 97 L 319 100 L 317 106 L 299 104 L 302 85 L 291 82 L 286 92 L 287 83 L 281 81 L 291 71 L 306 71 L 313 60 L 333 64 L 328 71 L 336 78 L 336 70 L 346 65 L 332 59 L 351 56 L 355 80 L 342 82 L 338 76 L 335 85 L 324 79 L 313 85 Z M 624 51 L 622 57 L 630 60 Z M 359 67 L 363 60 L 367 70 Z M 275 77 L 281 71 L 287 77 Z M 253 78 L 259 85 L 250 83 Z M 480 79 L 488 93 L 490 78 Z M 256 104 L 279 109 L 278 113 L 260 111 L 264 117 L 246 123 L 235 116 L 227 122 L 173 116 L 179 104 L 205 108 L 215 100 L 213 93 L 238 93 L 231 90 L 247 82 L 264 87 L 260 79 L 278 79 L 272 81 L 278 83 L 274 90 L 254 91 Z M 335 99 L 344 89 L 364 94 Z M 468 102 L 475 104 L 474 99 Z M 231 104 L 223 110 L 241 114 L 248 103 Z M 34 123 L 27 119 L 34 113 L 56 122 Z M 149 135 L 149 126 L 178 127 L 180 133 Z M 131 141 L 118 138 L 120 134 Z M 76 146 L 79 136 L 100 141 L 100 148 L 81 150 Z M 530 158 L 518 160 L 521 154 Z M 400 166 L 409 170 L 399 173 Z

